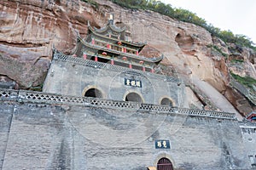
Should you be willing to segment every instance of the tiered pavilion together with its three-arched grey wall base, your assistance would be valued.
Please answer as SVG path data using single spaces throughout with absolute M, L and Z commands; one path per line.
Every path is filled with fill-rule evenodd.
M 183 82 L 154 71 L 163 56 L 140 55 L 146 44 L 126 41 L 128 36 L 113 19 L 101 29 L 89 23 L 87 37 L 78 34 L 73 54 L 54 49 L 43 91 L 186 107 Z

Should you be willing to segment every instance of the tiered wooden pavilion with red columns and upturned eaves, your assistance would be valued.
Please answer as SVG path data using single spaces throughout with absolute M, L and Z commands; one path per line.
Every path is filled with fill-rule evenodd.
M 163 59 L 163 56 L 148 59 L 139 55 L 146 44 L 125 41 L 128 39 L 125 28 L 115 26 L 113 20 L 108 20 L 102 29 L 92 28 L 89 23 L 88 29 L 86 38 L 78 37 L 75 56 L 149 72 L 154 72 L 154 65 Z

